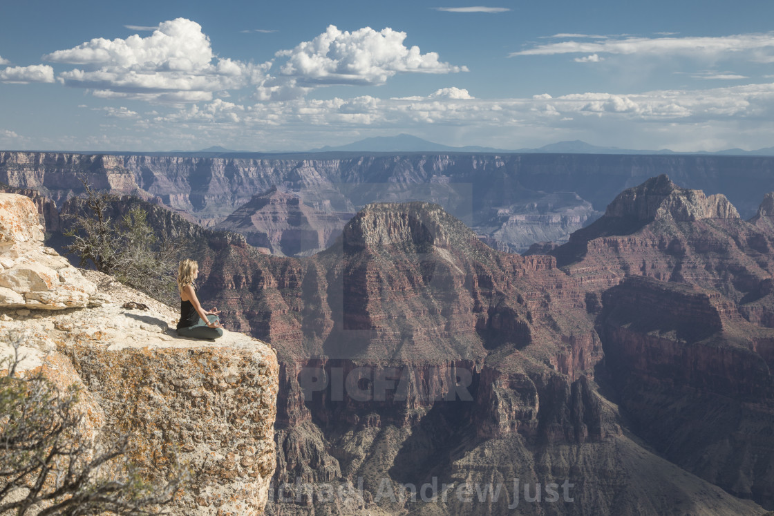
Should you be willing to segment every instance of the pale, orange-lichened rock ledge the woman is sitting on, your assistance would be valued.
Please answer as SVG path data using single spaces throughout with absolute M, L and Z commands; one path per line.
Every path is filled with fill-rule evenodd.
M 42 235 L 27 197 L 0 194 L 0 260 L 14 255 L 0 281 L 12 283 L 6 298 L 22 298 L 0 306 L 2 356 L 20 340 L 22 371 L 80 385 L 87 435 L 128 434 L 130 458 L 149 479 L 163 481 L 178 450 L 192 483 L 172 514 L 263 514 L 276 464 L 275 352 L 228 331 L 213 342 L 177 337 L 170 307 L 70 267 Z M 36 278 L 46 289 L 35 290 Z M 122 308 L 128 301 L 150 310 Z

